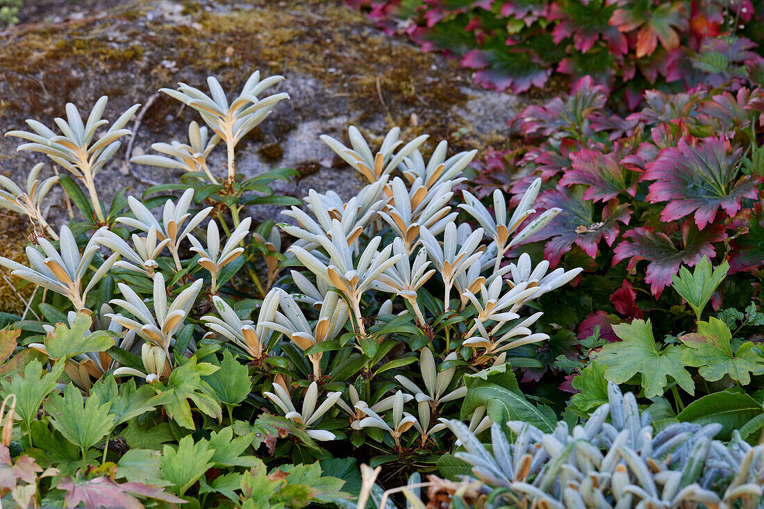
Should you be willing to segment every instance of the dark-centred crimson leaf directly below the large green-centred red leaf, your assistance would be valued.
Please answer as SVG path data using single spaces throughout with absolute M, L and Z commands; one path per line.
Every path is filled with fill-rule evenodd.
M 657 298 L 672 284 L 672 276 L 678 274 L 682 264 L 693 267 L 704 256 L 714 258 L 714 242 L 724 238 L 727 233 L 723 225 L 708 225 L 698 230 L 689 219 L 681 225 L 681 238 L 671 238 L 652 228 L 636 228 L 623 234 L 623 242 L 614 251 L 613 265 L 628 259 L 628 270 L 633 273 L 637 262 L 649 261 L 645 282 Z

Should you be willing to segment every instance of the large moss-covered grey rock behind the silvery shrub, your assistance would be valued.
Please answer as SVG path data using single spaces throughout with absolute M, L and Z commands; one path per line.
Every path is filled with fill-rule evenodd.
M 212 75 L 232 91 L 254 70 L 281 74 L 286 80 L 280 91 L 291 99 L 238 145 L 237 169 L 251 177 L 296 167 L 300 178 L 278 189 L 293 196 L 315 188 L 349 197 L 361 186 L 319 135 L 347 141 L 352 124 L 375 144 L 398 125 L 406 141 L 431 135 L 427 149 L 442 139 L 449 141 L 449 151 L 508 148 L 513 141 L 507 121 L 529 100 L 539 100 L 479 89 L 458 62 L 381 34 L 342 0 L 37 0 L 25 2 L 21 19 L 0 33 L 3 132 L 24 128 L 27 118 L 53 127 L 66 102 L 87 115 L 107 95 L 104 118 L 113 120 L 153 97 L 134 134 L 132 155 L 150 153 L 154 142 L 186 141 L 188 123 L 199 120 L 157 89 L 177 82 L 206 89 L 206 76 Z M 34 163 L 48 161 L 17 152 L 19 143 L 0 138 L 0 173 L 21 184 Z M 125 145 L 96 177 L 105 203 L 123 188 L 138 195 L 178 177 L 128 164 Z M 225 149 L 220 150 L 210 162 L 213 172 L 224 174 Z M 52 173 L 46 164 L 40 178 Z M 53 224 L 69 220 L 60 189 L 50 193 L 47 212 Z M 283 220 L 274 207 L 248 212 L 257 220 Z M 19 245 L 25 235 L 18 233 Z M 10 307 L 0 301 L 4 309 Z

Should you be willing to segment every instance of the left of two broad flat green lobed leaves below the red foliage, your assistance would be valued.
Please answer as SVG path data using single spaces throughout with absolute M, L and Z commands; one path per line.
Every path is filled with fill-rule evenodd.
M 613 326 L 620 342 L 604 345 L 597 355 L 597 362 L 606 366 L 605 378 L 617 384 L 625 384 L 636 374 L 642 378 L 646 397 L 662 396 L 672 378 L 689 394 L 694 394 L 695 384 L 681 361 L 681 348 L 676 345 L 663 349 L 652 336 L 652 323 L 640 319 L 632 323 Z

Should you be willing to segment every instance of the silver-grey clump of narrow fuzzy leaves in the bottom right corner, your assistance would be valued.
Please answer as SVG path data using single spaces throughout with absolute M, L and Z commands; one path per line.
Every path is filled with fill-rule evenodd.
M 445 421 L 464 445 L 455 456 L 504 503 L 551 509 L 626 507 L 762 507 L 764 445 L 750 446 L 733 432 L 715 440 L 719 423 L 672 423 L 653 433 L 633 394 L 608 385 L 610 402 L 570 430 L 559 422 L 543 433 L 523 421 L 491 426 L 492 453 L 464 423 Z M 610 422 L 608 421 L 610 417 Z M 488 488 L 490 486 L 490 488 Z

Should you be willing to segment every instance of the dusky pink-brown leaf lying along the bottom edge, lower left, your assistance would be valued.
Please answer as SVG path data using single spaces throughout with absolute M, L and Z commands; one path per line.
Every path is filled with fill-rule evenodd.
M 124 507 L 125 509 L 145 507 L 136 497 L 166 501 L 170 504 L 186 502 L 154 485 L 144 485 L 142 482 L 119 484 L 108 477 L 97 477 L 85 481 L 67 476 L 60 478 L 56 488 L 66 491 L 64 501 L 67 507 L 76 507 L 80 503 L 88 507 Z

